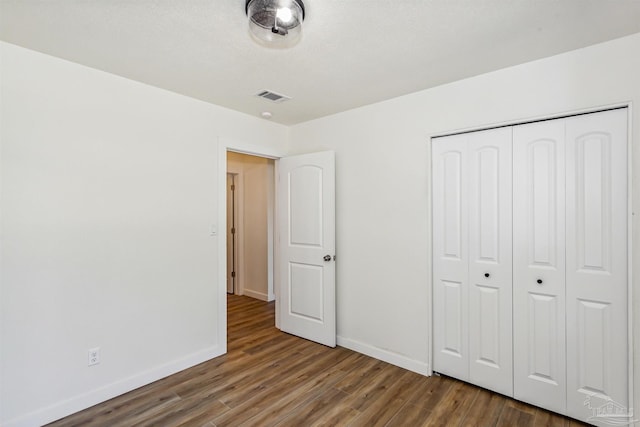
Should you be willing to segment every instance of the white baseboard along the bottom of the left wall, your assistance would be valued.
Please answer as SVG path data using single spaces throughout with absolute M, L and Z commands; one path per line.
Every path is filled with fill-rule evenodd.
M 190 354 L 178 360 L 156 366 L 147 371 L 133 375 L 129 378 L 107 384 L 87 393 L 74 396 L 70 399 L 54 403 L 37 411 L 22 415 L 18 418 L 7 421 L 3 427 L 34 427 L 41 426 L 67 415 L 74 414 L 93 405 L 107 401 L 121 394 L 135 390 L 154 381 L 168 377 L 199 363 L 211 360 L 224 354 L 220 346 L 209 347 L 196 353 Z

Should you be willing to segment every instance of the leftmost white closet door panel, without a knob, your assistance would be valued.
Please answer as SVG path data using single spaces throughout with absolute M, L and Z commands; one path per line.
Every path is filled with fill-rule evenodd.
M 468 380 L 467 136 L 437 138 L 433 166 L 433 362 Z

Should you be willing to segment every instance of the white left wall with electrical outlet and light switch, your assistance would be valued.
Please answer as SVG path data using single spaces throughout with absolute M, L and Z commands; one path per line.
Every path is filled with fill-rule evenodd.
M 224 351 L 217 139 L 287 128 L 0 49 L 0 424 L 39 425 Z

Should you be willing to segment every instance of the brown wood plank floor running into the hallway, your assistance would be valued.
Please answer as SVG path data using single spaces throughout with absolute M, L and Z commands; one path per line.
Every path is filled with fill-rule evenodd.
M 447 377 L 278 331 L 274 306 L 228 298 L 228 353 L 50 424 L 578 426 Z

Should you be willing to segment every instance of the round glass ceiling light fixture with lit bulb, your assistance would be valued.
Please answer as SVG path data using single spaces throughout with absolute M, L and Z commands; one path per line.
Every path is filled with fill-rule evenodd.
M 261 44 L 290 47 L 298 42 L 304 20 L 302 0 L 247 0 L 251 35 Z

